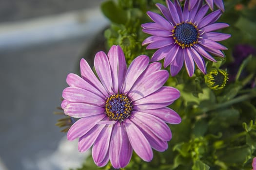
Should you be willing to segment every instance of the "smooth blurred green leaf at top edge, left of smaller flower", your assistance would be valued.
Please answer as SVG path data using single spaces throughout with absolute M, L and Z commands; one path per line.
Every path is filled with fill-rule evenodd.
M 101 3 L 101 11 L 102 13 L 108 17 L 111 22 L 117 23 L 117 24 L 125 24 L 127 22 L 127 11 L 121 9 L 118 7 L 118 5 L 112 1 L 107 0 Z

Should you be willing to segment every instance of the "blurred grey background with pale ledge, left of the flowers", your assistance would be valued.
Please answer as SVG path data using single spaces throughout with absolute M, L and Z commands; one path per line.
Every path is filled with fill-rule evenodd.
M 0 170 L 65 170 L 86 156 L 53 111 L 108 24 L 102 1 L 0 0 Z

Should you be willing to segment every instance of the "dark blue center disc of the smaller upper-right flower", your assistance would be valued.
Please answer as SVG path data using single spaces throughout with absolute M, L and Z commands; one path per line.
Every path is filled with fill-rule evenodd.
M 173 39 L 180 47 L 190 47 L 198 43 L 199 33 L 197 26 L 191 22 L 178 23 L 172 30 Z

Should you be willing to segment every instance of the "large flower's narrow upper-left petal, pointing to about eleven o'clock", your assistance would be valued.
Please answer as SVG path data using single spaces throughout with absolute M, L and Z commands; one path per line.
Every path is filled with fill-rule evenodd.
M 80 69 L 82 78 L 96 87 L 104 96 L 108 96 L 107 91 L 103 87 L 103 85 L 99 82 L 98 78 L 95 76 L 94 72 L 90 68 L 89 64 L 86 60 L 81 59 L 80 61 Z

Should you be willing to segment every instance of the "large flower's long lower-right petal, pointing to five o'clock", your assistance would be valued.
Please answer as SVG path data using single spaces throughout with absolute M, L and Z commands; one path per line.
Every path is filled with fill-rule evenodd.
M 153 151 L 147 138 L 129 119 L 125 120 L 125 129 L 135 153 L 137 153 L 142 160 L 147 162 L 151 161 L 153 158 Z

